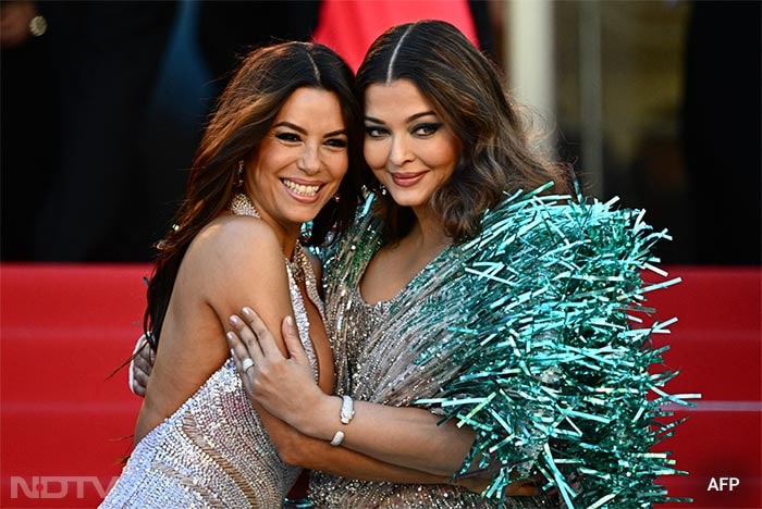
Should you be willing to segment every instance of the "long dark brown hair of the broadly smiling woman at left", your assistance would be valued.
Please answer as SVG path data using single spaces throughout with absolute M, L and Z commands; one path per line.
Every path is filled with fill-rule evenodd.
M 198 146 L 185 198 L 165 238 L 158 244 L 148 284 L 144 330 L 156 348 L 172 287 L 190 241 L 230 203 L 238 179 L 238 161 L 259 147 L 279 110 L 302 87 L 337 96 L 348 136 L 349 171 L 331 200 L 312 221 L 307 245 L 321 245 L 348 227 L 359 200 L 357 169 L 362 164 L 361 116 L 353 95 L 354 76 L 331 49 L 308 42 L 259 48 L 241 63 L 222 92 Z

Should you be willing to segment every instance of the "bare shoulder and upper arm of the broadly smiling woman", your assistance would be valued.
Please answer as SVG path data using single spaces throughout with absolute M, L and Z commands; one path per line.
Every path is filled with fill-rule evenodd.
M 222 336 L 230 328 L 226 316 L 235 309 L 234 302 L 256 300 L 266 323 L 279 324 L 281 313 L 292 312 L 286 282 L 282 248 L 265 223 L 223 216 L 196 236 L 177 270 L 136 424 L 136 442 L 171 415 L 230 357 Z

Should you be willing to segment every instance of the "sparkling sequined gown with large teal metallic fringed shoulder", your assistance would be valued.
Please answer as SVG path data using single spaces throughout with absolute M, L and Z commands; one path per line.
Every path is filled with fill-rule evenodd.
M 652 395 L 665 394 L 659 387 L 674 374 L 649 342 L 663 325 L 646 316 L 642 302 L 675 281 L 648 286 L 641 274 L 661 274 L 650 250 L 665 233 L 614 201 L 575 202 L 542 190 L 507 197 L 484 214 L 477 238 L 445 249 L 389 301 L 369 305 L 358 289 L 383 244 L 371 202 L 323 253 L 336 390 L 462 421 L 476 433 L 464 469 L 478 458 L 493 476 L 482 498 L 452 485 L 315 472 L 317 507 L 664 501 L 654 480 L 679 471 L 649 454 L 661 440 L 652 423 L 666 415 Z M 548 480 L 538 497 L 501 500 L 514 474 L 538 471 Z

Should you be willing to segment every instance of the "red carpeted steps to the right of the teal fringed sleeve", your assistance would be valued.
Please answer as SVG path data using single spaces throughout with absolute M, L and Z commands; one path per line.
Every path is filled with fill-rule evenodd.
M 692 497 L 695 502 L 661 507 L 762 508 L 762 272 L 729 268 L 669 272 L 683 283 L 649 299 L 660 319 L 679 319 L 672 334 L 654 338 L 671 345 L 665 362 L 681 371 L 667 392 L 701 393 L 702 398 L 695 410 L 676 412 L 688 415 L 688 421 L 660 449 L 674 451 L 677 468 L 690 473 L 665 477 L 663 484 L 672 495 Z M 738 485 L 730 489 L 734 479 Z

